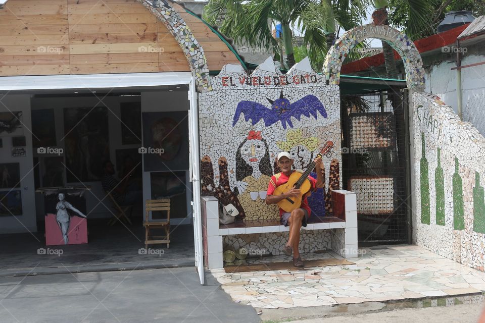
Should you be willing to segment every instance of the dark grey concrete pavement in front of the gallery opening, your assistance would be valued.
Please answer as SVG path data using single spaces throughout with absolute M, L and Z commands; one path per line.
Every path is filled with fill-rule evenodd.
M 192 268 L 0 278 L 2 323 L 259 322 Z

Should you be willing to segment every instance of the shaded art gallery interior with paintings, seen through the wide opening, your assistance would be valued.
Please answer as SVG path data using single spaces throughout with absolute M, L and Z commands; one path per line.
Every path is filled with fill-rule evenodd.
M 0 95 L 0 194 L 7 197 L 0 209 L 0 241 L 7 249 L 0 259 L 9 258 L 0 260 L 0 270 L 42 270 L 61 263 L 67 268 L 193 264 L 188 89 L 178 84 Z M 140 193 L 125 212 L 131 223 L 117 220 L 118 210 L 102 186 L 107 160 L 114 165 L 113 177 Z M 47 214 L 55 219 L 59 193 L 86 216 L 87 244 L 62 245 L 63 256 L 47 252 L 45 257 L 38 250 L 47 248 L 45 219 Z M 157 258 L 140 248 L 145 247 L 144 203 L 162 198 L 170 199 L 170 248 L 151 245 L 163 250 Z M 68 212 L 71 229 L 78 230 L 74 226 L 83 217 Z M 165 219 L 166 212 L 149 217 Z

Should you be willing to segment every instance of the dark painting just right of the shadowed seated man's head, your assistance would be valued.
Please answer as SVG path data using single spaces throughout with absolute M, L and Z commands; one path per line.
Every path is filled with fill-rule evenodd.
M 131 184 L 136 184 L 138 190 L 142 189 L 141 154 L 137 148 L 116 150 L 116 171 L 119 179 L 130 176 Z

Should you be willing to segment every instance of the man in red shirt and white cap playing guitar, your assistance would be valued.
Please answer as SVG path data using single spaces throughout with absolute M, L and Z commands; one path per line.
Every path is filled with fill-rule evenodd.
M 273 192 L 276 187 L 285 184 L 289 176 L 293 174 L 292 166 L 293 166 L 293 159 L 290 154 L 286 151 L 282 151 L 278 154 L 278 166 L 281 169 L 281 173 L 275 174 L 271 176 L 268 185 L 268 191 L 266 196 L 266 204 L 273 204 L 278 203 L 282 199 L 287 197 L 297 197 L 301 194 L 299 189 L 290 189 L 287 192 L 284 192 L 280 195 L 274 195 Z M 311 183 L 311 191 L 316 190 L 323 186 L 323 179 L 322 179 L 322 159 L 315 158 L 315 167 L 317 171 L 317 179 L 315 180 L 313 177 L 309 176 L 308 180 Z M 304 196 L 302 200 L 302 205 L 300 208 L 293 210 L 293 212 L 285 212 L 283 209 L 279 209 L 279 216 L 281 224 L 285 227 L 289 225 L 289 239 L 286 245 L 283 248 L 283 253 L 287 256 L 293 253 L 293 265 L 295 267 L 303 267 L 303 261 L 300 257 L 300 252 L 298 250 L 298 246 L 300 244 L 300 229 L 302 225 L 304 227 L 307 226 L 308 218 L 310 218 L 311 210 L 310 206 L 308 206 L 307 197 Z

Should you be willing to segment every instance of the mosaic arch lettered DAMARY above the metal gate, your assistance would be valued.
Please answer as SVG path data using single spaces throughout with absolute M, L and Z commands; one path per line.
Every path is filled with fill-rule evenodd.
M 413 41 L 406 34 L 390 26 L 373 24 L 347 31 L 330 48 L 324 64 L 325 76 L 329 84 L 340 83 L 340 70 L 347 54 L 355 45 L 367 38 L 377 38 L 389 43 L 404 62 L 408 88 L 424 89 L 423 61 Z

